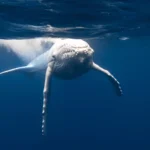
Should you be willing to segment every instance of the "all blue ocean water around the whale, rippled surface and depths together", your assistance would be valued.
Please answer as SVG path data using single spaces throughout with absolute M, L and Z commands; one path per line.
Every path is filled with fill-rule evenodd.
M 71 81 L 54 79 L 43 137 L 44 77 L 1 76 L 0 149 L 149 150 L 149 6 L 148 0 L 1 0 L 0 41 L 17 40 L 9 48 L 10 41 L 0 42 L 1 71 L 23 64 L 15 50 L 34 51 L 33 38 L 82 38 L 95 50 L 95 62 L 120 81 L 124 95 L 117 97 L 94 71 Z

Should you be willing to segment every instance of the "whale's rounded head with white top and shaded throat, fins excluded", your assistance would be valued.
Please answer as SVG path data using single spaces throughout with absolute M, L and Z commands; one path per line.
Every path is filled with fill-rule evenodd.
M 80 39 L 64 39 L 52 48 L 54 74 L 71 79 L 87 72 L 93 63 L 94 50 Z

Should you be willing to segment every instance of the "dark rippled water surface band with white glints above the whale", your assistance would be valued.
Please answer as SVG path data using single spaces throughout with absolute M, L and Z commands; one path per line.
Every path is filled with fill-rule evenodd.
M 0 38 L 150 35 L 150 1 L 3 0 Z

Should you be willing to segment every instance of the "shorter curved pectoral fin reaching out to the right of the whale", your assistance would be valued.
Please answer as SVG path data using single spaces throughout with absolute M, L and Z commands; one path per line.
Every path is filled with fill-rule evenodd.
M 103 69 L 102 67 L 95 64 L 94 62 L 92 64 L 92 68 L 97 70 L 97 71 L 102 72 L 103 74 L 105 74 L 108 77 L 108 79 L 112 83 L 113 87 L 115 88 L 116 93 L 117 93 L 118 96 L 121 96 L 123 94 L 120 83 L 117 81 L 117 79 L 108 70 Z

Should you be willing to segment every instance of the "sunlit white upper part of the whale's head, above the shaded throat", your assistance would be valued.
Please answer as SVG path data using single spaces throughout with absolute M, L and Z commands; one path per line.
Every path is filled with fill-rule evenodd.
M 53 57 L 60 63 L 86 63 L 92 60 L 93 53 L 89 44 L 80 39 L 65 39 L 53 48 Z

